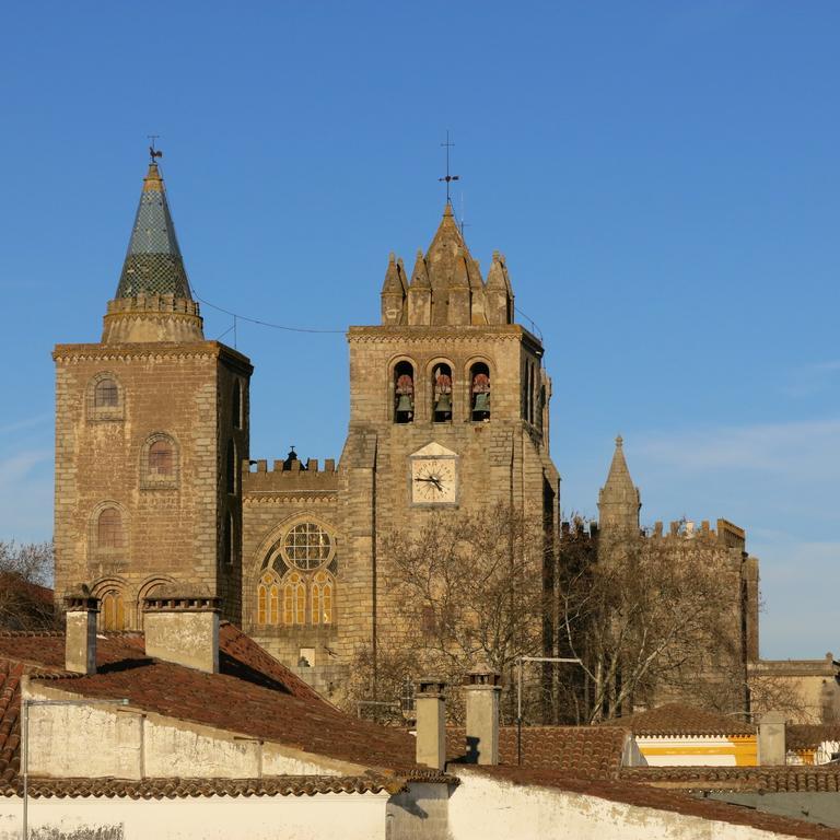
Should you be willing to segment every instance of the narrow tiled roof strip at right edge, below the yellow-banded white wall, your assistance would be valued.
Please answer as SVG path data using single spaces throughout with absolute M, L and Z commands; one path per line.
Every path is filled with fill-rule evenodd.
M 628 767 L 621 779 L 684 791 L 840 792 L 840 767 Z

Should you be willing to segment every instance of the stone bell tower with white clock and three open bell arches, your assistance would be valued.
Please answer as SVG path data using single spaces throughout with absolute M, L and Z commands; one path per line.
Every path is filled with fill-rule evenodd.
M 419 533 L 431 516 L 502 503 L 556 540 L 551 381 L 541 341 L 514 323 L 513 300 L 504 256 L 492 255 L 485 280 L 447 202 L 410 276 L 388 258 L 381 324 L 348 331 L 350 427 L 339 470 L 348 651 L 385 644 L 399 620 L 384 549 L 395 530 Z

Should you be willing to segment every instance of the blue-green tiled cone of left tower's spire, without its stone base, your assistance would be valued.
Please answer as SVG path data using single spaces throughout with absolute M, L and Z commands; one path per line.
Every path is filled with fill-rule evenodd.
M 140 206 L 117 287 L 117 298 L 174 294 L 192 300 L 156 163 L 143 179 Z

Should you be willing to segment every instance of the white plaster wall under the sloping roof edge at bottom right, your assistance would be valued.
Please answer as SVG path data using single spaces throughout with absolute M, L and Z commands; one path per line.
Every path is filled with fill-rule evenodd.
M 769 840 L 748 826 L 642 808 L 550 788 L 513 785 L 458 770 L 450 798 L 452 840 Z

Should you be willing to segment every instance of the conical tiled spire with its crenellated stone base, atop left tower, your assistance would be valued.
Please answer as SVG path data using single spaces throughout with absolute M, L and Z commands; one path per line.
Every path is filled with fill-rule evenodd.
M 154 161 L 143 178 L 128 253 L 116 296 L 108 303 L 102 340 L 203 340 L 198 304 L 189 291 L 166 190 Z

